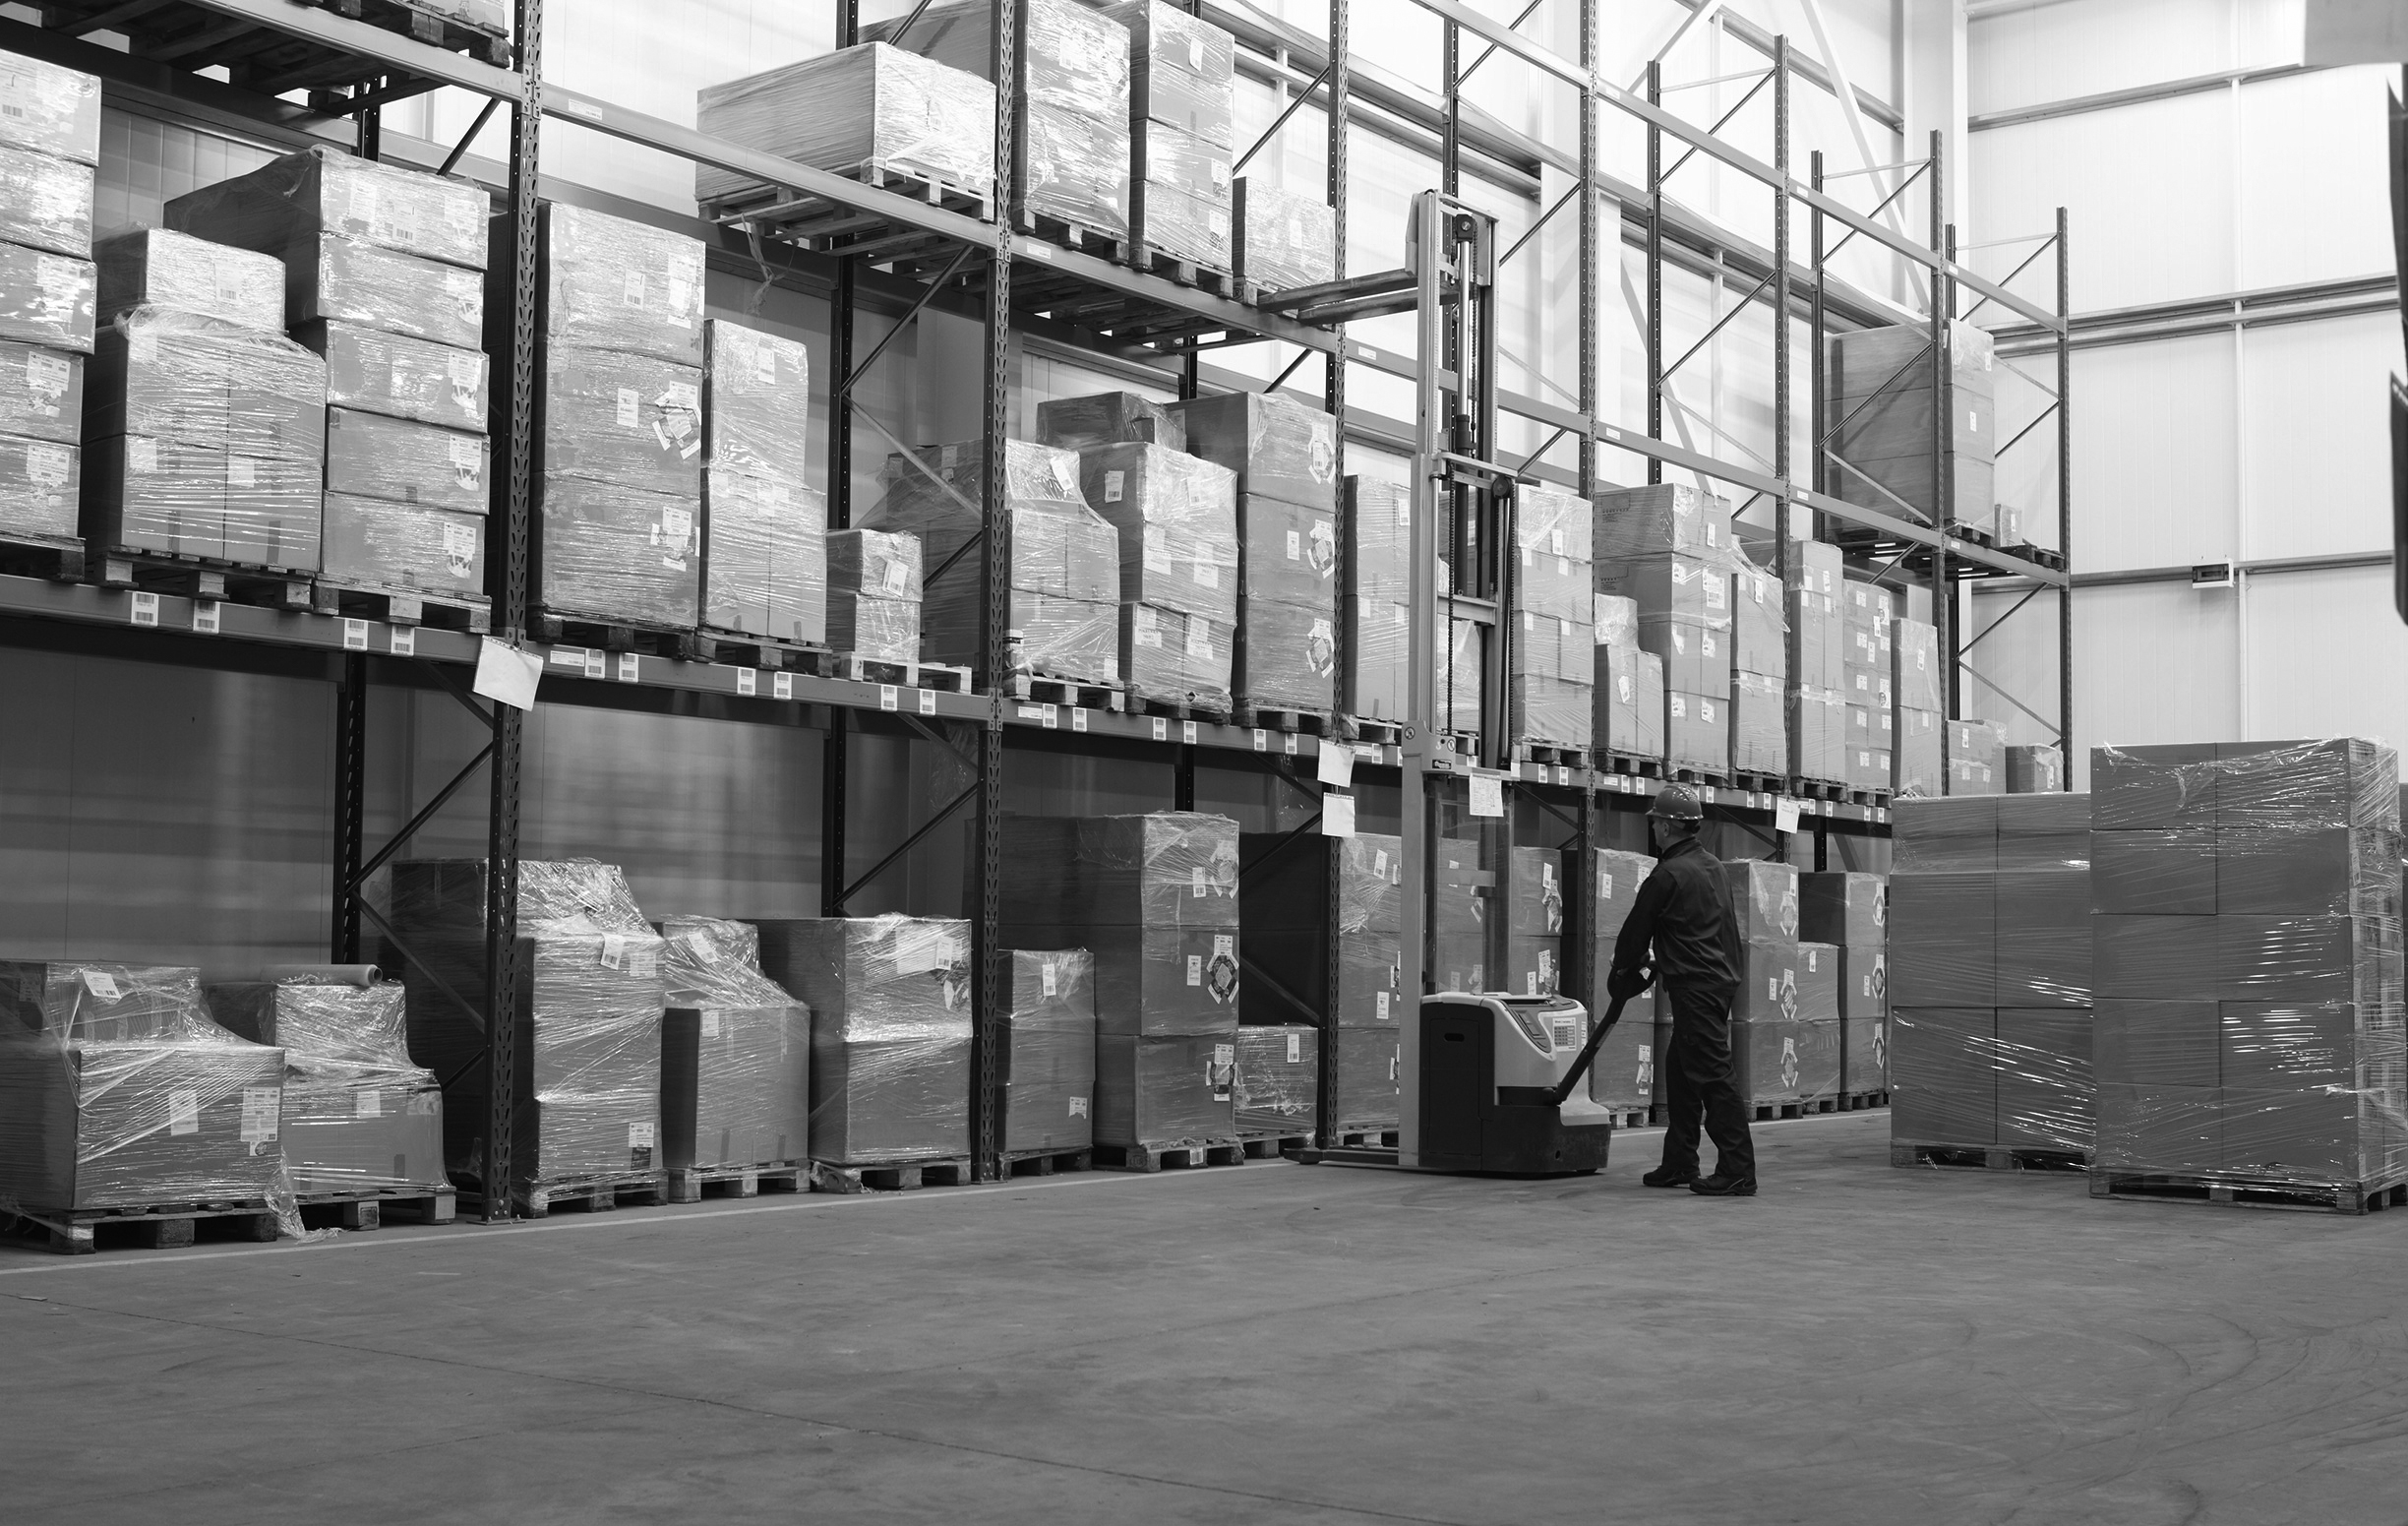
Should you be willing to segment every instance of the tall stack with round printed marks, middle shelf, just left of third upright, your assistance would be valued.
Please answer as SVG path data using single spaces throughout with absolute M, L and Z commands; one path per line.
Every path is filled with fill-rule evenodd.
M 1288 397 L 1180 404 L 1187 450 L 1238 474 L 1238 703 L 1327 715 L 1336 700 L 1336 419 Z

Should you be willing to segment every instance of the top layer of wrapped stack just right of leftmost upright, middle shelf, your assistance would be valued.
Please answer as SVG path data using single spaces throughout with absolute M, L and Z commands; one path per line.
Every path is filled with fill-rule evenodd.
M 708 128 L 706 128 L 708 130 Z M 508 224 L 496 224 L 496 238 Z M 549 344 L 703 363 L 703 241 L 566 202 L 542 205 Z M 503 262 L 506 267 L 506 262 Z M 510 306 L 496 303 L 508 320 Z

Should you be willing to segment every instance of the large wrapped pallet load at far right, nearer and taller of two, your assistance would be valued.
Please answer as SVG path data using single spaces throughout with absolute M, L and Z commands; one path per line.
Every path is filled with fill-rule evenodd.
M 2338 1213 L 2398 1201 L 2398 753 L 2357 739 L 2109 746 L 2090 751 L 2090 1194 Z

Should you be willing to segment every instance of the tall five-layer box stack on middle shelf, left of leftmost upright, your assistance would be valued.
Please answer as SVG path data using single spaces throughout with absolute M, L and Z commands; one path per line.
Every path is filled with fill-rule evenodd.
M 277 282 L 270 327 L 325 363 L 320 614 L 491 623 L 486 214 L 477 185 L 337 149 L 287 154 L 166 205 L 169 229 L 255 250 Z M 176 262 L 176 233 L 111 246 L 135 238 L 149 241 L 152 267 Z M 104 289 L 116 286 L 111 260 L 101 265 Z M 217 291 L 234 289 L 231 260 L 214 274 Z

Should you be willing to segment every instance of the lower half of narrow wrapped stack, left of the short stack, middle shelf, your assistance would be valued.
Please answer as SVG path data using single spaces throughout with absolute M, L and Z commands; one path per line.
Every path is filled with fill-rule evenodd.
M 828 640 L 828 501 L 778 477 L 703 469 L 703 623 Z

